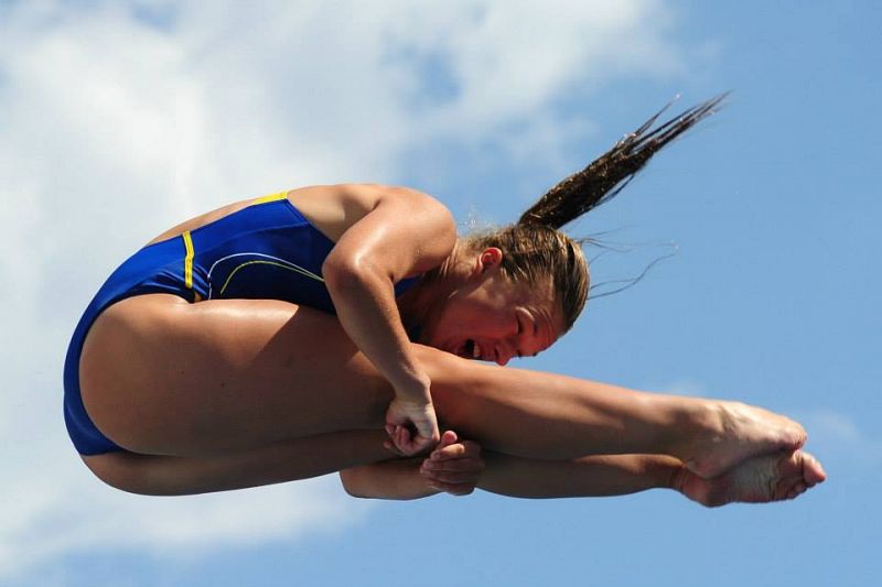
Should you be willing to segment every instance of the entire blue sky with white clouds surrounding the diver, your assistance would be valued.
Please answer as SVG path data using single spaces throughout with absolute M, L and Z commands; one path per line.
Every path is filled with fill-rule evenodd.
M 882 8 L 367 4 L 0 2 L 0 584 L 872 583 Z M 627 251 L 598 281 L 677 254 L 519 366 L 792 415 L 830 477 L 800 499 L 386 503 L 326 478 L 162 500 L 76 458 L 67 337 L 107 273 L 181 219 L 372 181 L 434 194 L 463 229 L 501 224 L 675 95 L 676 111 L 728 89 L 571 230 Z

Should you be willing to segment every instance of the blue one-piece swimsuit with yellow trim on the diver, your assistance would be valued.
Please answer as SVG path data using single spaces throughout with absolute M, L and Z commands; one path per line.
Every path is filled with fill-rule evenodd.
M 322 263 L 333 248 L 334 242 L 281 193 L 130 257 L 86 308 L 64 361 L 64 420 L 79 454 L 123 450 L 95 426 L 79 392 L 83 343 L 104 309 L 135 295 L 170 293 L 191 303 L 230 297 L 283 300 L 333 314 L 321 278 Z M 417 279 L 397 283 L 396 295 Z

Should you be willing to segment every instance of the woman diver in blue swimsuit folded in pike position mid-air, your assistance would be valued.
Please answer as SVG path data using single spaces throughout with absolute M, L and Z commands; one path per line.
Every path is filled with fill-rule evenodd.
M 784 416 L 501 367 L 548 348 L 585 303 L 587 262 L 558 228 L 720 99 L 650 131 L 656 115 L 490 235 L 458 238 L 437 200 L 378 185 L 293 189 L 172 228 L 110 275 L 76 327 L 64 371 L 75 447 L 105 482 L 148 494 L 351 469 L 347 490 L 372 497 L 475 483 L 796 497 L 824 472 Z M 470 442 L 441 438 L 438 420 Z M 389 461 L 434 446 L 422 465 Z

